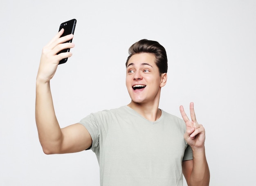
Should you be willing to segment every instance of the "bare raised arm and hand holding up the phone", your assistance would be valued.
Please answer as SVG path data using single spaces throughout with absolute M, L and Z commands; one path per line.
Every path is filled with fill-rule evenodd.
M 72 56 L 70 52 L 59 51 L 74 47 L 73 43 L 64 43 L 73 35 L 60 36 L 63 29 L 43 48 L 38 74 L 36 77 L 36 126 L 40 143 L 45 154 L 79 152 L 89 148 L 92 138 L 81 124 L 61 129 L 55 115 L 50 80 L 54 76 L 61 59 Z

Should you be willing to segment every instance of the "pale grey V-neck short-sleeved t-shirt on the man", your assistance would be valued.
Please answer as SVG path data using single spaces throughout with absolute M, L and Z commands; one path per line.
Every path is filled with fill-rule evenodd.
M 193 159 L 184 121 L 162 110 L 148 121 L 128 106 L 93 113 L 79 123 L 92 137 L 101 186 L 182 186 L 182 161 Z

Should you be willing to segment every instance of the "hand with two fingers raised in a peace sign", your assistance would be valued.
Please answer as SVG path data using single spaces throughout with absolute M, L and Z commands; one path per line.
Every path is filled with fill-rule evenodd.
M 191 121 L 187 117 L 182 105 L 180 106 L 180 113 L 186 123 L 186 132 L 184 134 L 186 142 L 191 146 L 192 150 L 204 148 L 205 130 L 203 125 L 198 124 L 196 121 L 194 103 L 190 103 Z

